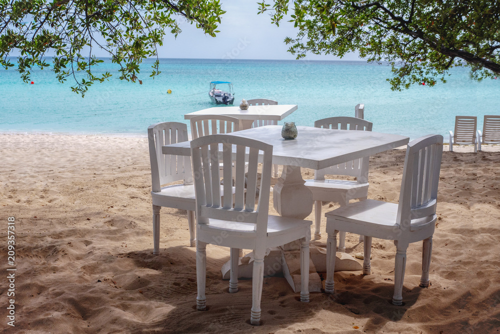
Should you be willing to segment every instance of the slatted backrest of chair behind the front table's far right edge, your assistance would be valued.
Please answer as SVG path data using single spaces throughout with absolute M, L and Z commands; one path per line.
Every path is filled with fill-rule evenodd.
M 355 117 L 329 117 L 314 122 L 316 128 L 371 131 L 373 123 Z M 325 174 L 355 176 L 357 182 L 368 182 L 368 157 L 314 171 L 315 180 L 324 180 Z

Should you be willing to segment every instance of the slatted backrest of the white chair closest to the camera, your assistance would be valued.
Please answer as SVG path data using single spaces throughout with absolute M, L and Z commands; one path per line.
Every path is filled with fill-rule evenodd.
M 262 172 L 258 204 L 255 208 L 258 156 L 262 154 Z M 209 135 L 191 141 L 196 219 L 199 224 L 210 218 L 254 224 L 257 237 L 265 238 L 269 209 L 272 145 L 232 135 Z M 233 177 L 235 165 L 235 193 L 231 182 L 224 182 L 220 190 L 219 162 L 223 165 L 224 180 Z M 248 164 L 245 187 L 245 164 Z M 223 196 L 223 200 L 221 200 Z M 230 228 L 228 226 L 228 228 Z

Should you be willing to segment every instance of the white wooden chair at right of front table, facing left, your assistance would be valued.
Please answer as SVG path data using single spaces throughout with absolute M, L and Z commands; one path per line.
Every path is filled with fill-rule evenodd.
M 420 286 L 429 285 L 432 234 L 436 222 L 437 183 L 441 166 L 442 136 L 428 135 L 408 144 L 404 160 L 399 203 L 367 199 L 327 212 L 325 292 L 333 293 L 333 269 L 337 231 L 364 235 L 363 274 L 369 275 L 371 238 L 394 240 L 394 295 L 392 303 L 402 304 L 406 248 L 423 240 Z

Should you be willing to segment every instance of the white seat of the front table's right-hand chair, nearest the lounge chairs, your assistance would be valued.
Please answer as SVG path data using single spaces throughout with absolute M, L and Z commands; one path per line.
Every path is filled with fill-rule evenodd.
M 400 228 L 396 223 L 397 206 L 395 203 L 373 199 L 347 204 L 324 214 L 327 219 L 326 232 L 339 230 L 363 234 L 369 229 L 369 235 L 386 239 Z M 434 221 L 435 215 L 413 219 L 409 230 L 418 231 L 430 224 L 433 226 Z

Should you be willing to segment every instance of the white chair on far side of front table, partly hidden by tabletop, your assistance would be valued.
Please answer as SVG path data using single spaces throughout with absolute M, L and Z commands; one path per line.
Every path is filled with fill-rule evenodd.
M 371 131 L 373 124 L 355 117 L 329 117 L 314 122 L 316 128 Z M 305 180 L 314 200 L 314 238 L 321 238 L 321 202 L 336 202 L 346 205 L 351 199 L 366 199 L 368 196 L 369 157 L 356 159 L 340 165 L 314 171 L 314 179 Z M 356 181 L 325 179 L 325 174 L 356 177 Z M 359 241 L 362 241 L 360 236 Z M 345 232 L 340 232 L 338 251 L 345 252 Z

